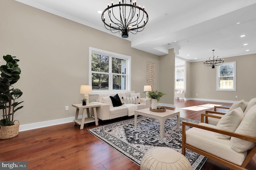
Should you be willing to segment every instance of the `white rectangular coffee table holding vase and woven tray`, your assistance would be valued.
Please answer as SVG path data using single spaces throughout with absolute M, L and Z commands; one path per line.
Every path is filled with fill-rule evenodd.
M 164 121 L 170 117 L 177 117 L 177 128 L 180 128 L 180 110 L 175 109 L 175 111 L 173 110 L 168 110 L 166 109 L 165 112 L 152 112 L 149 110 L 149 108 L 147 109 L 141 109 L 138 111 L 134 112 L 134 127 L 137 127 L 137 117 L 138 115 L 141 116 L 146 116 L 146 117 L 151 117 L 152 121 L 154 121 L 154 119 L 158 119 L 158 121 L 160 122 L 160 137 L 163 138 L 164 137 Z

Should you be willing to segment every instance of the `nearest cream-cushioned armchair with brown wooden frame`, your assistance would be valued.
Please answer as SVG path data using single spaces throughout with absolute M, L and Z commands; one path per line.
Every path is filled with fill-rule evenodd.
M 182 154 L 187 148 L 234 170 L 246 169 L 256 154 L 256 105 L 246 115 L 237 108 L 219 119 L 216 126 L 182 122 Z

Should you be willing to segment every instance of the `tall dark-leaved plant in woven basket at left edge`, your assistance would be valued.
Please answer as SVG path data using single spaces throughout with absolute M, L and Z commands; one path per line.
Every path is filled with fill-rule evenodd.
M 3 119 L 0 120 L 0 139 L 8 139 L 18 135 L 20 123 L 18 121 L 14 124 L 14 113 L 23 107 L 19 106 L 23 101 L 17 101 L 22 96 L 22 91 L 13 87 L 20 79 L 20 60 L 11 55 L 3 58 L 6 64 L 0 66 L 0 110 L 3 114 Z

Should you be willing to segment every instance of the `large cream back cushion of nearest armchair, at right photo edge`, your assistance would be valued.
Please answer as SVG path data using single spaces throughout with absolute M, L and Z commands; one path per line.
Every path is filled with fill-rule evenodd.
M 256 105 L 251 107 L 250 110 L 246 113 L 244 119 L 237 127 L 235 133 L 256 137 Z M 253 148 L 255 143 L 231 137 L 230 146 L 236 152 L 244 152 Z

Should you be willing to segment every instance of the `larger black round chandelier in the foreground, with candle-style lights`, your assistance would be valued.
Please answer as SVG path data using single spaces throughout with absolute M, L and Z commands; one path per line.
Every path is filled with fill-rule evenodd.
M 105 18 L 106 17 L 106 18 Z M 102 12 L 101 19 L 107 30 L 112 33 L 119 33 L 122 38 L 128 38 L 129 32 L 132 34 L 137 34 L 144 30 L 148 22 L 148 13 L 145 8 L 141 8 L 136 5 L 136 0 L 130 0 L 130 4 L 126 4 L 126 0 L 119 0 L 119 4 L 111 6 L 108 4 Z

